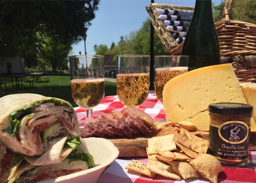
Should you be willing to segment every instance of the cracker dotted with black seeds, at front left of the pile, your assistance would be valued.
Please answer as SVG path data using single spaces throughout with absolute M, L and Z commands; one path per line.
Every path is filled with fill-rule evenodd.
M 148 177 L 156 177 L 156 174 L 148 169 L 147 163 L 138 162 L 137 160 L 131 160 L 125 169 L 137 171 L 138 173 L 147 175 Z

